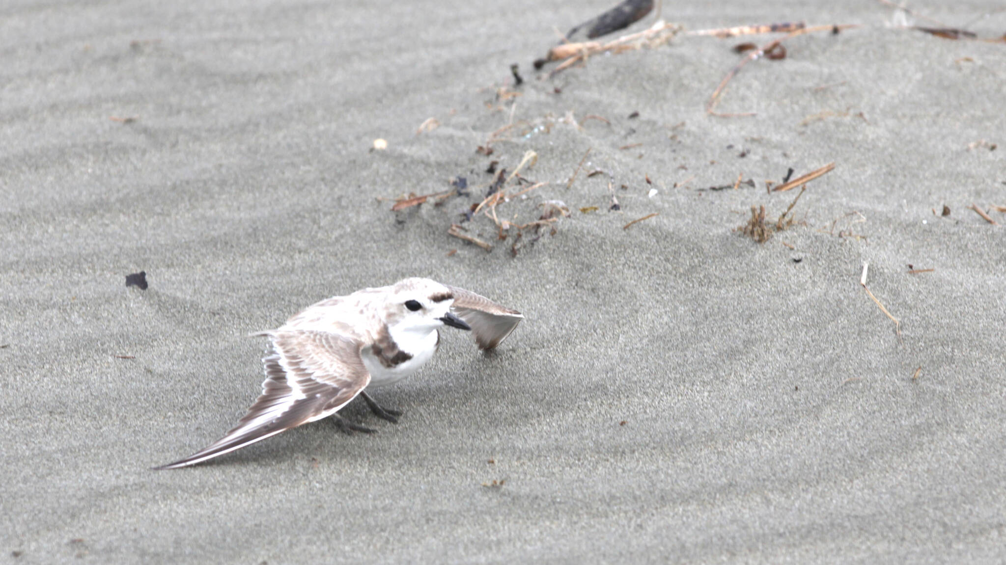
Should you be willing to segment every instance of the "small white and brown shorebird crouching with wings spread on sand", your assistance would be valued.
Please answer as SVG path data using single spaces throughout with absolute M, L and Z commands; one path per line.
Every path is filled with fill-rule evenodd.
M 457 287 L 405 278 L 308 307 L 276 330 L 263 358 L 262 395 L 237 426 L 184 459 L 154 467 L 177 468 L 222 455 L 327 416 L 344 431 L 373 431 L 335 413 L 357 395 L 378 416 L 401 412 L 378 405 L 368 386 L 396 383 L 422 367 L 440 345 L 440 328 L 471 330 L 480 349 L 493 349 L 523 320 L 515 311 Z

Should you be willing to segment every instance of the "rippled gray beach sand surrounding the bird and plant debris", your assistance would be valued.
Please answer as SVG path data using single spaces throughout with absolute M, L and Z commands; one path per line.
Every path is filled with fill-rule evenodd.
M 719 110 L 750 118 L 704 104 L 730 47 L 766 37 L 679 38 L 537 80 L 552 27 L 611 3 L 0 6 L 0 560 L 1006 560 L 1004 228 L 967 209 L 1006 205 L 1006 45 L 889 28 L 879 2 L 668 2 L 690 29 L 865 27 L 747 65 Z M 998 2 L 938 4 L 912 6 L 1006 28 Z M 487 158 L 475 148 L 510 106 L 486 103 L 503 105 L 512 62 L 521 126 Z M 523 126 L 568 111 L 610 124 Z M 522 174 L 551 184 L 498 210 L 525 222 L 561 199 L 557 233 L 516 258 L 484 217 L 468 225 L 492 252 L 449 237 L 489 161 L 512 170 L 527 150 Z M 766 179 L 829 162 L 804 224 L 762 245 L 734 231 L 796 195 Z M 738 174 L 757 188 L 704 190 Z M 472 196 L 377 200 L 456 176 Z M 127 289 L 140 269 L 150 289 Z M 149 470 L 255 398 L 247 333 L 408 275 L 527 320 L 495 355 L 446 334 L 377 394 L 398 425 L 346 409 L 377 434 L 320 421 Z

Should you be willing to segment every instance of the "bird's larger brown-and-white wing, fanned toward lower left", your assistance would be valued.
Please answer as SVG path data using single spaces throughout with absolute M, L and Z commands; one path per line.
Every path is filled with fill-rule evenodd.
M 326 332 L 272 332 L 266 381 L 244 417 L 209 446 L 156 469 L 188 466 L 262 441 L 342 408 L 370 382 L 360 343 Z

